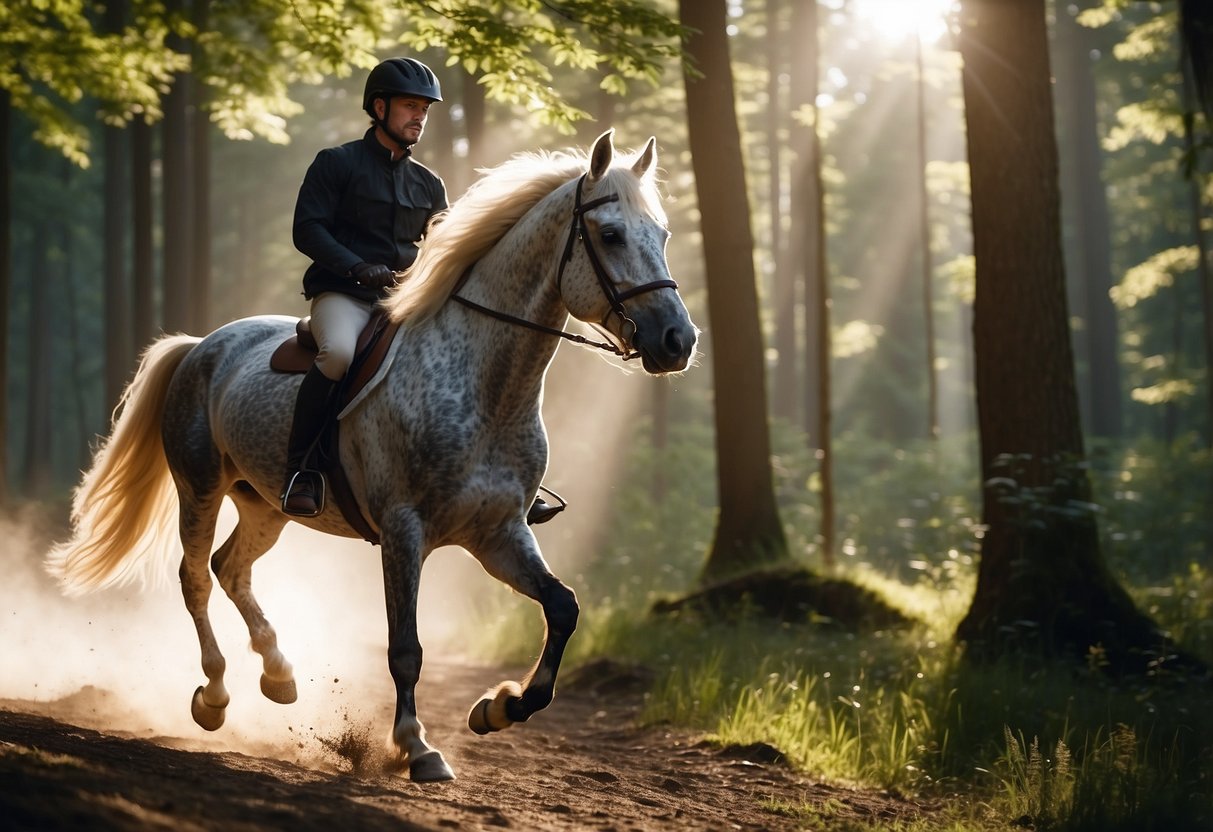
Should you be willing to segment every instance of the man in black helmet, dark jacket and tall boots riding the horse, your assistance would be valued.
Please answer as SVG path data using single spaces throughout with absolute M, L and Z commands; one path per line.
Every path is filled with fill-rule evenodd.
M 443 99 L 438 78 L 415 58 L 388 58 L 371 69 L 363 109 L 366 133 L 317 154 L 295 204 L 295 247 L 312 258 L 303 297 L 312 302 L 319 347 L 295 399 L 281 507 L 315 517 L 323 509 L 319 473 L 300 475 L 324 429 L 330 398 L 353 361 L 358 336 L 375 303 L 412 264 L 429 221 L 446 204 L 446 186 L 412 159 L 429 106 Z M 536 498 L 528 523 L 564 508 Z

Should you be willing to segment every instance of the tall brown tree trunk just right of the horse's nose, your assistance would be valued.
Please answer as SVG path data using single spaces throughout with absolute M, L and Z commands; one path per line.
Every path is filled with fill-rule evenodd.
M 775 507 L 763 341 L 741 135 L 733 98 L 725 1 L 680 0 L 702 78 L 685 76 L 687 122 L 701 216 L 716 389 L 721 511 L 701 580 L 780 562 L 787 543 Z

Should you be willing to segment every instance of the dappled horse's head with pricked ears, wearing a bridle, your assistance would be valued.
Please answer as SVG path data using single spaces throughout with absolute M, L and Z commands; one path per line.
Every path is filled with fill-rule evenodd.
M 569 313 L 605 330 L 651 374 L 685 370 L 699 330 L 666 262 L 665 212 L 654 183 L 656 139 L 631 165 L 613 167 L 614 131 L 594 142 L 560 262 Z

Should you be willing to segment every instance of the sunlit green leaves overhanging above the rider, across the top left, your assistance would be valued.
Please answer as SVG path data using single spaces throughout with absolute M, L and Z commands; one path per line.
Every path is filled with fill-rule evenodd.
M 95 101 L 110 124 L 155 121 L 181 73 L 201 84 L 226 136 L 285 143 L 286 121 L 302 109 L 292 85 L 346 78 L 400 44 L 435 49 L 479 75 L 490 99 L 568 133 L 588 114 L 556 90 L 553 67 L 605 68 L 603 89 L 626 95 L 631 81 L 656 86 L 682 55 L 682 28 L 640 0 L 254 0 L 211 4 L 205 21 L 132 5 L 133 22 L 118 33 L 99 32 L 81 0 L 0 8 L 0 89 L 34 121 L 38 141 L 76 164 L 89 160 L 90 119 L 70 104 Z

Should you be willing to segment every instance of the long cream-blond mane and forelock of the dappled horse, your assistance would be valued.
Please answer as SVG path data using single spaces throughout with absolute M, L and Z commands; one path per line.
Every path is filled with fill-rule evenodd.
M 615 158 L 603 177 L 625 210 L 666 222 L 653 176 L 638 178 L 632 158 Z M 625 166 L 626 165 L 626 166 Z M 394 321 L 433 315 L 450 297 L 463 272 L 505 237 L 523 215 L 590 166 L 583 150 L 519 153 L 482 177 L 437 216 L 426 232 L 406 279 L 383 301 Z

